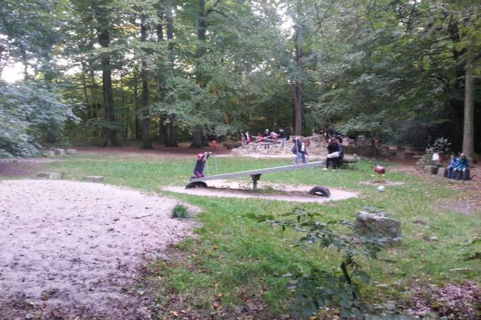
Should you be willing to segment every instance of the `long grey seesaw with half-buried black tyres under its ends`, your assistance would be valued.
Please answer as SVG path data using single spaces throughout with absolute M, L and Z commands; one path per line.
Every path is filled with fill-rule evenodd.
M 324 165 L 326 165 L 325 161 L 315 161 L 315 162 L 303 163 L 299 165 L 282 165 L 280 167 L 270 167 L 265 169 L 239 171 L 239 172 L 224 173 L 224 174 L 214 174 L 212 176 L 190 179 L 190 183 L 185 186 L 185 189 L 207 188 L 207 184 L 205 183 L 205 181 L 207 180 L 231 179 L 231 178 L 238 178 L 238 177 L 245 177 L 245 176 L 250 176 L 252 178 L 252 189 L 257 189 L 257 181 L 260 180 L 261 174 L 304 169 L 304 168 L 310 168 L 310 167 L 320 167 Z M 329 196 L 331 196 L 331 191 L 329 191 L 329 189 L 325 188 L 324 186 L 315 186 L 312 189 L 310 189 L 309 194 L 313 194 L 317 196 L 327 196 L 329 198 Z

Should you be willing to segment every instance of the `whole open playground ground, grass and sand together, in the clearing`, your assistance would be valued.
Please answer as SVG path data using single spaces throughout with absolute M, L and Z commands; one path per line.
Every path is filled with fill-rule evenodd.
M 272 319 L 288 306 L 282 275 L 309 263 L 330 268 L 336 253 L 299 251 L 293 247 L 296 232 L 260 225 L 246 215 L 279 215 L 299 206 L 322 213 L 322 220 L 351 221 L 363 206 L 382 206 L 401 221 L 403 242 L 363 262 L 375 279 L 365 287 L 372 299 L 391 303 L 401 292 L 413 292 L 397 300 L 396 309 L 422 314 L 431 301 L 448 295 L 446 304 L 474 312 L 480 267 L 464 260 L 461 248 L 478 236 L 479 182 L 453 184 L 414 164 L 361 159 L 343 170 L 262 174 L 257 190 L 249 175 L 185 189 L 195 150 L 133 150 L 79 148 L 76 155 L 3 164 L 0 196 L 8 206 L 1 208 L 0 245 L 7 255 L 0 284 L 9 293 L 0 303 L 8 315 Z M 291 162 L 214 152 L 217 170 L 212 157 L 210 176 Z M 390 183 L 384 192 L 377 191 L 375 164 L 386 167 L 383 179 Z M 39 171 L 63 176 L 37 179 Z M 86 176 L 104 181 L 83 182 Z M 331 196 L 308 194 L 312 186 L 326 186 Z M 193 218 L 171 218 L 178 203 Z M 18 245 L 7 245 L 12 243 Z M 423 284 L 434 285 L 432 295 L 420 289 Z

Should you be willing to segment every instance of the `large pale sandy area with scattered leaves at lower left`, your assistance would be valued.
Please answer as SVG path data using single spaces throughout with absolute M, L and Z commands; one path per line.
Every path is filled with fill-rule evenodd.
M 170 218 L 176 203 L 103 184 L 1 181 L 0 314 L 23 297 L 116 319 L 139 263 L 189 235 L 192 221 Z

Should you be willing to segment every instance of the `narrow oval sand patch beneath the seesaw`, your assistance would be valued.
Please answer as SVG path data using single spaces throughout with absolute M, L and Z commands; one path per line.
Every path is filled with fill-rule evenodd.
M 326 202 L 344 200 L 357 197 L 351 191 L 329 188 L 331 197 L 312 196 L 308 191 L 312 186 L 273 184 L 270 182 L 257 182 L 258 190 L 252 191 L 252 182 L 213 180 L 208 182 L 208 188 L 185 189 L 185 186 L 164 186 L 164 191 L 193 194 L 195 196 L 214 196 L 225 198 L 256 198 L 276 201 L 291 202 Z

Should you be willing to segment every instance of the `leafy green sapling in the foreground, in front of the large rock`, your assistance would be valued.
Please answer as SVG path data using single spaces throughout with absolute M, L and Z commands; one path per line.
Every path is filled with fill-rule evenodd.
M 347 221 L 331 220 L 326 223 L 317 220 L 320 213 L 305 209 L 294 209 L 281 216 L 296 215 L 295 219 L 275 220 L 272 215 L 248 215 L 257 222 L 279 225 L 282 230 L 287 227 L 302 232 L 298 247 L 318 244 L 322 248 L 331 248 L 342 254 L 341 264 L 334 271 L 322 270 L 311 266 L 308 274 L 287 274 L 292 278 L 288 287 L 295 292 L 295 311 L 298 317 L 309 317 L 324 307 L 340 307 L 343 318 L 363 319 L 366 307 L 359 292 L 360 283 L 370 283 L 370 276 L 362 271 L 358 257 L 367 256 L 377 259 L 382 238 L 359 237 L 355 232 L 345 235 L 334 231 L 336 225 L 353 227 Z

